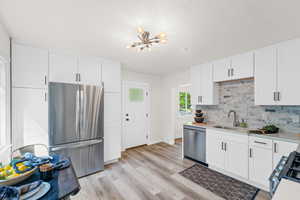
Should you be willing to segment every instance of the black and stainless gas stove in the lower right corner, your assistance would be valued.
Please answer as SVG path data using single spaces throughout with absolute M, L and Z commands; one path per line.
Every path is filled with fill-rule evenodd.
M 288 157 L 283 156 L 277 164 L 270 181 L 270 193 L 273 195 L 282 178 L 300 183 L 300 153 L 294 151 Z

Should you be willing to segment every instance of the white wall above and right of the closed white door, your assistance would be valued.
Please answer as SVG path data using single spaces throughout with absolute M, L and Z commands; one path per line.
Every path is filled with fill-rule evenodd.
M 161 134 L 161 77 L 122 70 L 123 81 L 148 83 L 150 86 L 150 143 L 162 141 Z

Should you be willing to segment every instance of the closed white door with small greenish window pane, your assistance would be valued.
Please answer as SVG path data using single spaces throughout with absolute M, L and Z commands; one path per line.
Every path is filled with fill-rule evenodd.
M 124 148 L 147 144 L 149 90 L 144 83 L 123 84 L 123 144 Z

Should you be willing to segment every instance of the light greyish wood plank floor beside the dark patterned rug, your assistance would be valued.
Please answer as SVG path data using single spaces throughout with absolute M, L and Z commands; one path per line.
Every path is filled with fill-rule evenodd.
M 221 200 L 178 172 L 193 161 L 181 159 L 181 141 L 158 143 L 127 150 L 119 162 L 103 172 L 81 178 L 74 200 Z M 256 200 L 269 200 L 260 192 Z

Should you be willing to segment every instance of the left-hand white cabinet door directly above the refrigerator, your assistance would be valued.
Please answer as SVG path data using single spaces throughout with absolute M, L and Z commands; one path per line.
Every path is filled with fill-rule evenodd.
M 49 80 L 51 82 L 77 83 L 78 59 L 75 56 L 50 53 Z

